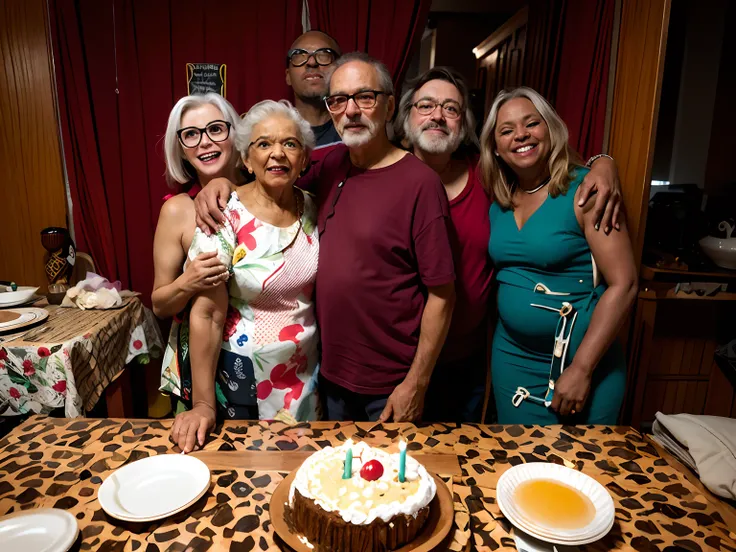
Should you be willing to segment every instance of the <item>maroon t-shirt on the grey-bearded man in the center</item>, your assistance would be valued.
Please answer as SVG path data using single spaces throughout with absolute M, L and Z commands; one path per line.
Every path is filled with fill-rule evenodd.
M 391 393 L 414 360 L 427 288 L 455 279 L 442 182 L 411 154 L 363 170 L 338 146 L 299 184 L 319 204 L 320 371 L 356 393 Z

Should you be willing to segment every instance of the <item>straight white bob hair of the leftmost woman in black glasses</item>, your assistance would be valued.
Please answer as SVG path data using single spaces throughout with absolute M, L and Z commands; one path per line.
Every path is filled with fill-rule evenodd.
M 166 180 L 169 184 L 186 184 L 197 178 L 196 171 L 184 156 L 184 150 L 179 143 L 179 137 L 176 135 L 176 131 L 180 129 L 181 119 L 187 111 L 206 104 L 213 105 L 222 112 L 223 120 L 230 123 L 232 127 L 231 131 L 234 131 L 238 126 L 238 122 L 240 121 L 238 112 L 235 111 L 235 108 L 230 102 L 214 92 L 184 96 L 176 102 L 176 105 L 169 114 L 169 122 L 166 125 L 166 135 L 164 136 Z M 238 164 L 240 164 L 238 156 L 235 156 L 235 158 L 238 159 Z

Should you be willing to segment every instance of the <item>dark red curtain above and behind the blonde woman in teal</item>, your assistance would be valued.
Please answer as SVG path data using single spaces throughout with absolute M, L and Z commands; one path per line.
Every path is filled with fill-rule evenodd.
M 600 153 L 614 0 L 532 0 L 524 83 L 543 94 L 583 157 Z

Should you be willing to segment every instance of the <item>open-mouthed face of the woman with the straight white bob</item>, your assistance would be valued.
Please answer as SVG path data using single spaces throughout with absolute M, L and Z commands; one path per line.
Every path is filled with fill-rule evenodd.
M 206 128 L 213 121 L 223 121 L 225 116 L 212 104 L 204 104 L 188 109 L 181 116 L 179 128 L 197 127 Z M 220 125 L 216 125 L 220 127 Z M 224 123 L 221 125 L 224 127 Z M 211 128 L 210 132 L 217 134 L 227 131 L 226 128 Z M 216 135 L 217 139 L 218 136 Z M 181 144 L 180 144 L 181 145 Z M 202 140 L 198 146 L 185 148 L 182 146 L 184 158 L 197 171 L 199 180 L 212 179 L 218 176 L 228 176 L 235 168 L 237 154 L 233 147 L 232 132 L 222 142 L 213 142 L 206 132 L 202 133 Z

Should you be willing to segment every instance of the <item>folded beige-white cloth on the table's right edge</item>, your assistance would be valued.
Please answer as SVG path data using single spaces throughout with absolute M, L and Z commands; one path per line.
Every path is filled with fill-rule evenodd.
M 656 414 L 654 440 L 692 467 L 713 494 L 736 500 L 736 420 Z

